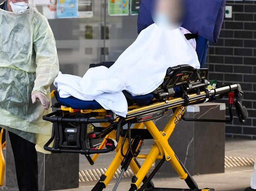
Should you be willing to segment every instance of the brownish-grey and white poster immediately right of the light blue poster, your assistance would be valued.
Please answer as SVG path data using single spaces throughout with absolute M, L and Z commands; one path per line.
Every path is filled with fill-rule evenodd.
M 78 15 L 83 18 L 93 17 L 93 2 L 92 0 L 78 1 Z

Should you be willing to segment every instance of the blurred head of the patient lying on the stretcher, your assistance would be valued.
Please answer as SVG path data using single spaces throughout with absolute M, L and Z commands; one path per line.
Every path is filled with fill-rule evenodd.
M 153 7 L 152 18 L 163 29 L 174 30 L 184 22 L 184 0 L 155 0 Z

